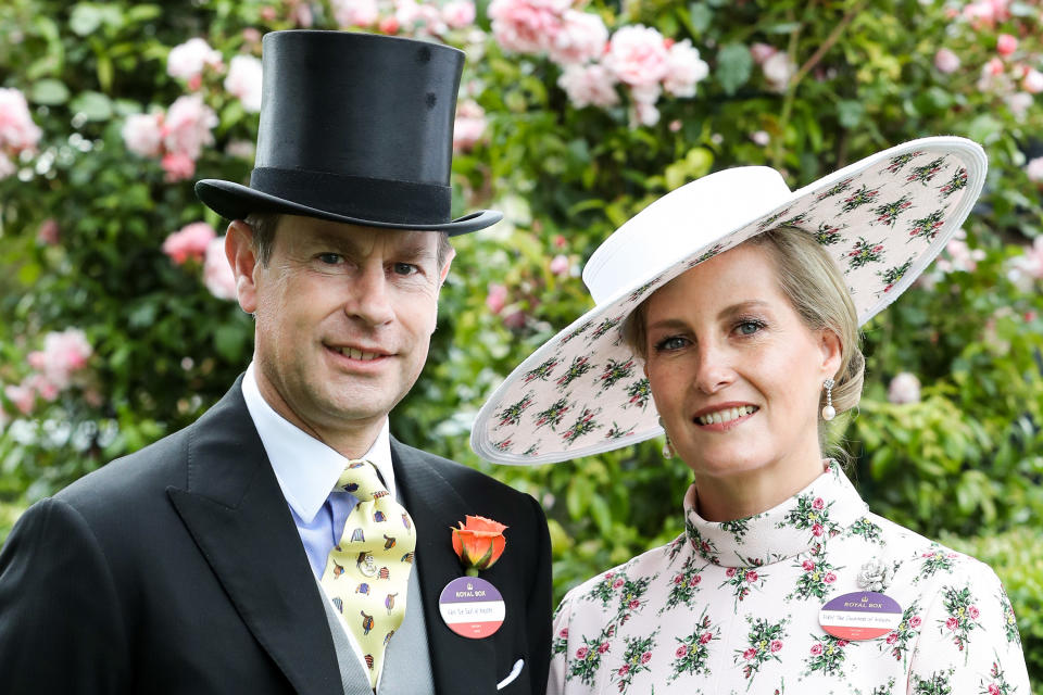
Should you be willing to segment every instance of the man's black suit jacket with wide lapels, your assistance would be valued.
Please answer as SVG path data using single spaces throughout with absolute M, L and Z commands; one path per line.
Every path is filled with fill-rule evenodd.
M 391 442 L 417 533 L 436 687 L 542 693 L 550 654 L 550 541 L 529 495 Z M 438 610 L 462 570 L 450 527 L 510 528 L 481 573 L 506 619 L 486 640 Z M 190 427 L 30 507 L 0 552 L 0 693 L 340 693 L 332 639 L 300 535 L 240 382 Z

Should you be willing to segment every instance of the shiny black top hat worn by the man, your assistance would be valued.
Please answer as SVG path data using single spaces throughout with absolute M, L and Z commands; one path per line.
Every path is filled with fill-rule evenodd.
M 273 31 L 263 64 L 250 186 L 197 182 L 211 210 L 450 235 L 503 217 L 482 210 L 450 219 L 462 51 L 374 34 Z

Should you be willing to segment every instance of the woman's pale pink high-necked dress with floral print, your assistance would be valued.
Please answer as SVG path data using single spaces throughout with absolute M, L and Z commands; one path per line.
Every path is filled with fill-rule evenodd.
M 692 486 L 684 533 L 565 596 L 549 695 L 1031 695 L 995 573 L 869 513 L 835 464 L 753 517 L 695 507 Z M 822 605 L 867 587 L 899 603 L 897 628 L 825 632 Z

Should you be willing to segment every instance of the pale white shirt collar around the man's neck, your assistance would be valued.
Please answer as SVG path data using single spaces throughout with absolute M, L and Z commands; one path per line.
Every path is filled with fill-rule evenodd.
M 242 396 L 261 443 L 272 462 L 272 469 L 290 508 L 305 523 L 325 504 L 348 458 L 284 418 L 268 405 L 257 388 L 253 363 L 242 380 Z M 394 470 L 391 466 L 391 434 L 388 418 L 364 458 L 380 471 L 388 492 L 394 495 Z

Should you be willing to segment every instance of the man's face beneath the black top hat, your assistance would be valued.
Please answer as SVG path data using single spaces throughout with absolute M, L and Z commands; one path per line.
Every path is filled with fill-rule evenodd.
M 256 320 L 257 380 L 276 410 L 327 441 L 382 421 L 427 359 L 450 264 L 438 267 L 438 241 L 285 215 L 267 266 L 254 262 L 248 276 L 249 264 L 233 261 L 239 303 Z

